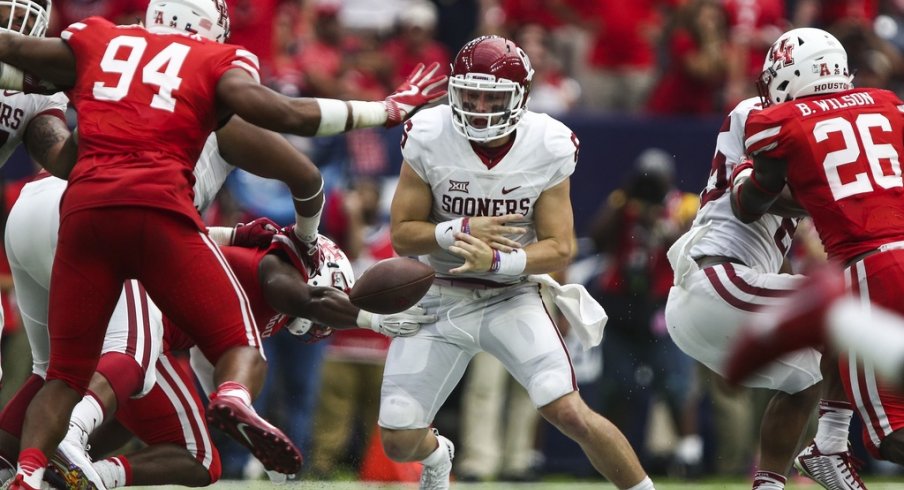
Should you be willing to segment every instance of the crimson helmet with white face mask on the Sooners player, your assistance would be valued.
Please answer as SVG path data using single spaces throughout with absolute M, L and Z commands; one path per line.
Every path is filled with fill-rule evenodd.
M 452 125 L 477 142 L 510 134 L 527 109 L 533 76 L 527 54 L 508 39 L 483 36 L 465 44 L 449 77 Z

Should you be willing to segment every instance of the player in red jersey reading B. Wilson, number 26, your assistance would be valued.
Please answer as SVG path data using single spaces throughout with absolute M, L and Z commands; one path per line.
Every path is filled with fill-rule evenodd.
M 829 260 L 844 265 L 852 293 L 900 313 L 904 102 L 886 90 L 855 89 L 852 78 L 844 47 L 825 31 L 794 29 L 772 45 L 758 80 L 764 108 L 745 127 L 753 168 L 733 179 L 732 207 L 753 222 L 787 186 Z M 870 362 L 842 356 L 840 365 L 867 448 L 904 464 L 904 398 L 877 380 Z

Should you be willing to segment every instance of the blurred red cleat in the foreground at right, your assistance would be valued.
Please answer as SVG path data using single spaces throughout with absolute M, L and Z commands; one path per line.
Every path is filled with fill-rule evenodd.
M 842 274 L 827 266 L 810 274 L 780 306 L 760 310 L 728 356 L 728 381 L 739 384 L 788 352 L 825 344 L 826 312 L 844 292 Z

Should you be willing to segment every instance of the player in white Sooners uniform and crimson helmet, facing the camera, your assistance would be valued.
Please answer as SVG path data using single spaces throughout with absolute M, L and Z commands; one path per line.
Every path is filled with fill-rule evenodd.
M 393 460 L 424 464 L 422 489 L 448 488 L 454 445 L 428 428 L 471 358 L 485 351 L 600 473 L 619 488 L 651 489 L 624 436 L 578 395 L 565 344 L 526 277 L 561 270 L 573 257 L 569 177 L 578 156 L 570 129 L 527 110 L 532 75 L 513 42 L 477 38 L 455 58 L 449 105 L 404 126 L 392 242 L 436 269 L 420 306 L 439 320 L 389 348 L 383 447 Z

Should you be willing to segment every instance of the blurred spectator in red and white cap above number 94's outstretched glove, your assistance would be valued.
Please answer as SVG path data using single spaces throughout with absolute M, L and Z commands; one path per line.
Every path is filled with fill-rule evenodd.
M 449 51 L 434 38 L 437 9 L 427 0 L 409 5 L 399 13 L 397 34 L 386 42 L 383 52 L 392 61 L 394 70 L 390 86 L 405 81 L 418 63 L 430 66 L 438 62 L 442 73 L 449 73 Z

